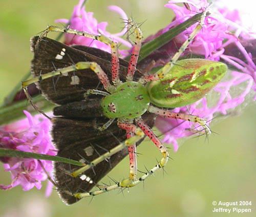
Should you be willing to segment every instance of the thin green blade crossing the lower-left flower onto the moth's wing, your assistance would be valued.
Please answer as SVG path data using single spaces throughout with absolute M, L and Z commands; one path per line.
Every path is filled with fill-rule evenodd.
M 64 157 L 58 157 L 58 156 L 51 156 L 51 155 L 44 155 L 44 154 L 36 154 L 31 152 L 21 152 L 16 151 L 12 149 L 0 149 L 0 157 L 16 157 L 16 158 L 33 158 L 38 160 L 51 160 L 56 162 L 62 162 L 62 163 L 69 163 L 76 166 L 84 166 L 86 164 L 81 163 L 76 160 L 71 160 Z

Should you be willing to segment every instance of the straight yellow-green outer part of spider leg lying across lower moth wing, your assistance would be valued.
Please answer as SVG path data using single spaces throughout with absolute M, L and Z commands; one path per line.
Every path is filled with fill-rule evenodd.
M 97 165 L 101 161 L 105 160 L 106 158 L 111 157 L 112 155 L 116 154 L 117 152 L 123 150 L 126 147 L 133 146 L 134 143 L 138 142 L 143 137 L 144 137 L 143 131 L 141 131 L 141 129 L 139 129 L 139 128 L 136 128 L 135 129 L 135 135 L 133 137 L 124 140 L 123 142 L 121 142 L 115 148 L 113 148 L 113 149 L 109 150 L 108 152 L 102 154 L 101 156 L 99 156 L 95 160 L 91 161 L 89 164 L 87 164 L 85 166 L 82 166 L 81 168 L 74 171 L 70 175 L 73 176 L 73 177 L 79 176 L 80 174 L 82 174 L 83 172 L 85 172 L 85 171 L 89 170 L 90 168 L 94 167 L 95 165 Z

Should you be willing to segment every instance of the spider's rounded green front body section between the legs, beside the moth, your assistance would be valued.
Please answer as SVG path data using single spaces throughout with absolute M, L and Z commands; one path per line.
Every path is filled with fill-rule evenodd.
M 101 101 L 103 114 L 109 118 L 135 118 L 145 113 L 150 104 L 146 88 L 137 82 L 125 82 Z

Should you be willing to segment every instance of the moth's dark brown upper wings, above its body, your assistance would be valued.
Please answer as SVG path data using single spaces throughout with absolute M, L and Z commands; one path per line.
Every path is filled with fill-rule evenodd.
M 31 39 L 34 58 L 31 62 L 33 76 L 40 76 L 56 69 L 74 65 L 80 61 L 97 62 L 111 80 L 111 54 L 86 46 L 67 46 L 47 37 L 35 36 Z M 92 54 L 90 54 L 91 52 Z M 124 80 L 127 62 L 120 59 L 120 79 Z M 72 77 L 78 78 L 72 84 Z M 75 70 L 68 76 L 55 76 L 36 83 L 45 97 L 59 105 L 81 101 L 87 89 L 103 90 L 98 77 L 91 69 Z

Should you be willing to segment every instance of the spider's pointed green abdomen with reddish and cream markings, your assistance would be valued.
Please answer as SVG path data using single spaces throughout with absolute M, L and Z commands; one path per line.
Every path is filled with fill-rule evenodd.
M 177 108 L 204 97 L 225 75 L 227 66 L 205 59 L 184 59 L 160 81 L 147 84 L 151 103 L 164 108 Z

